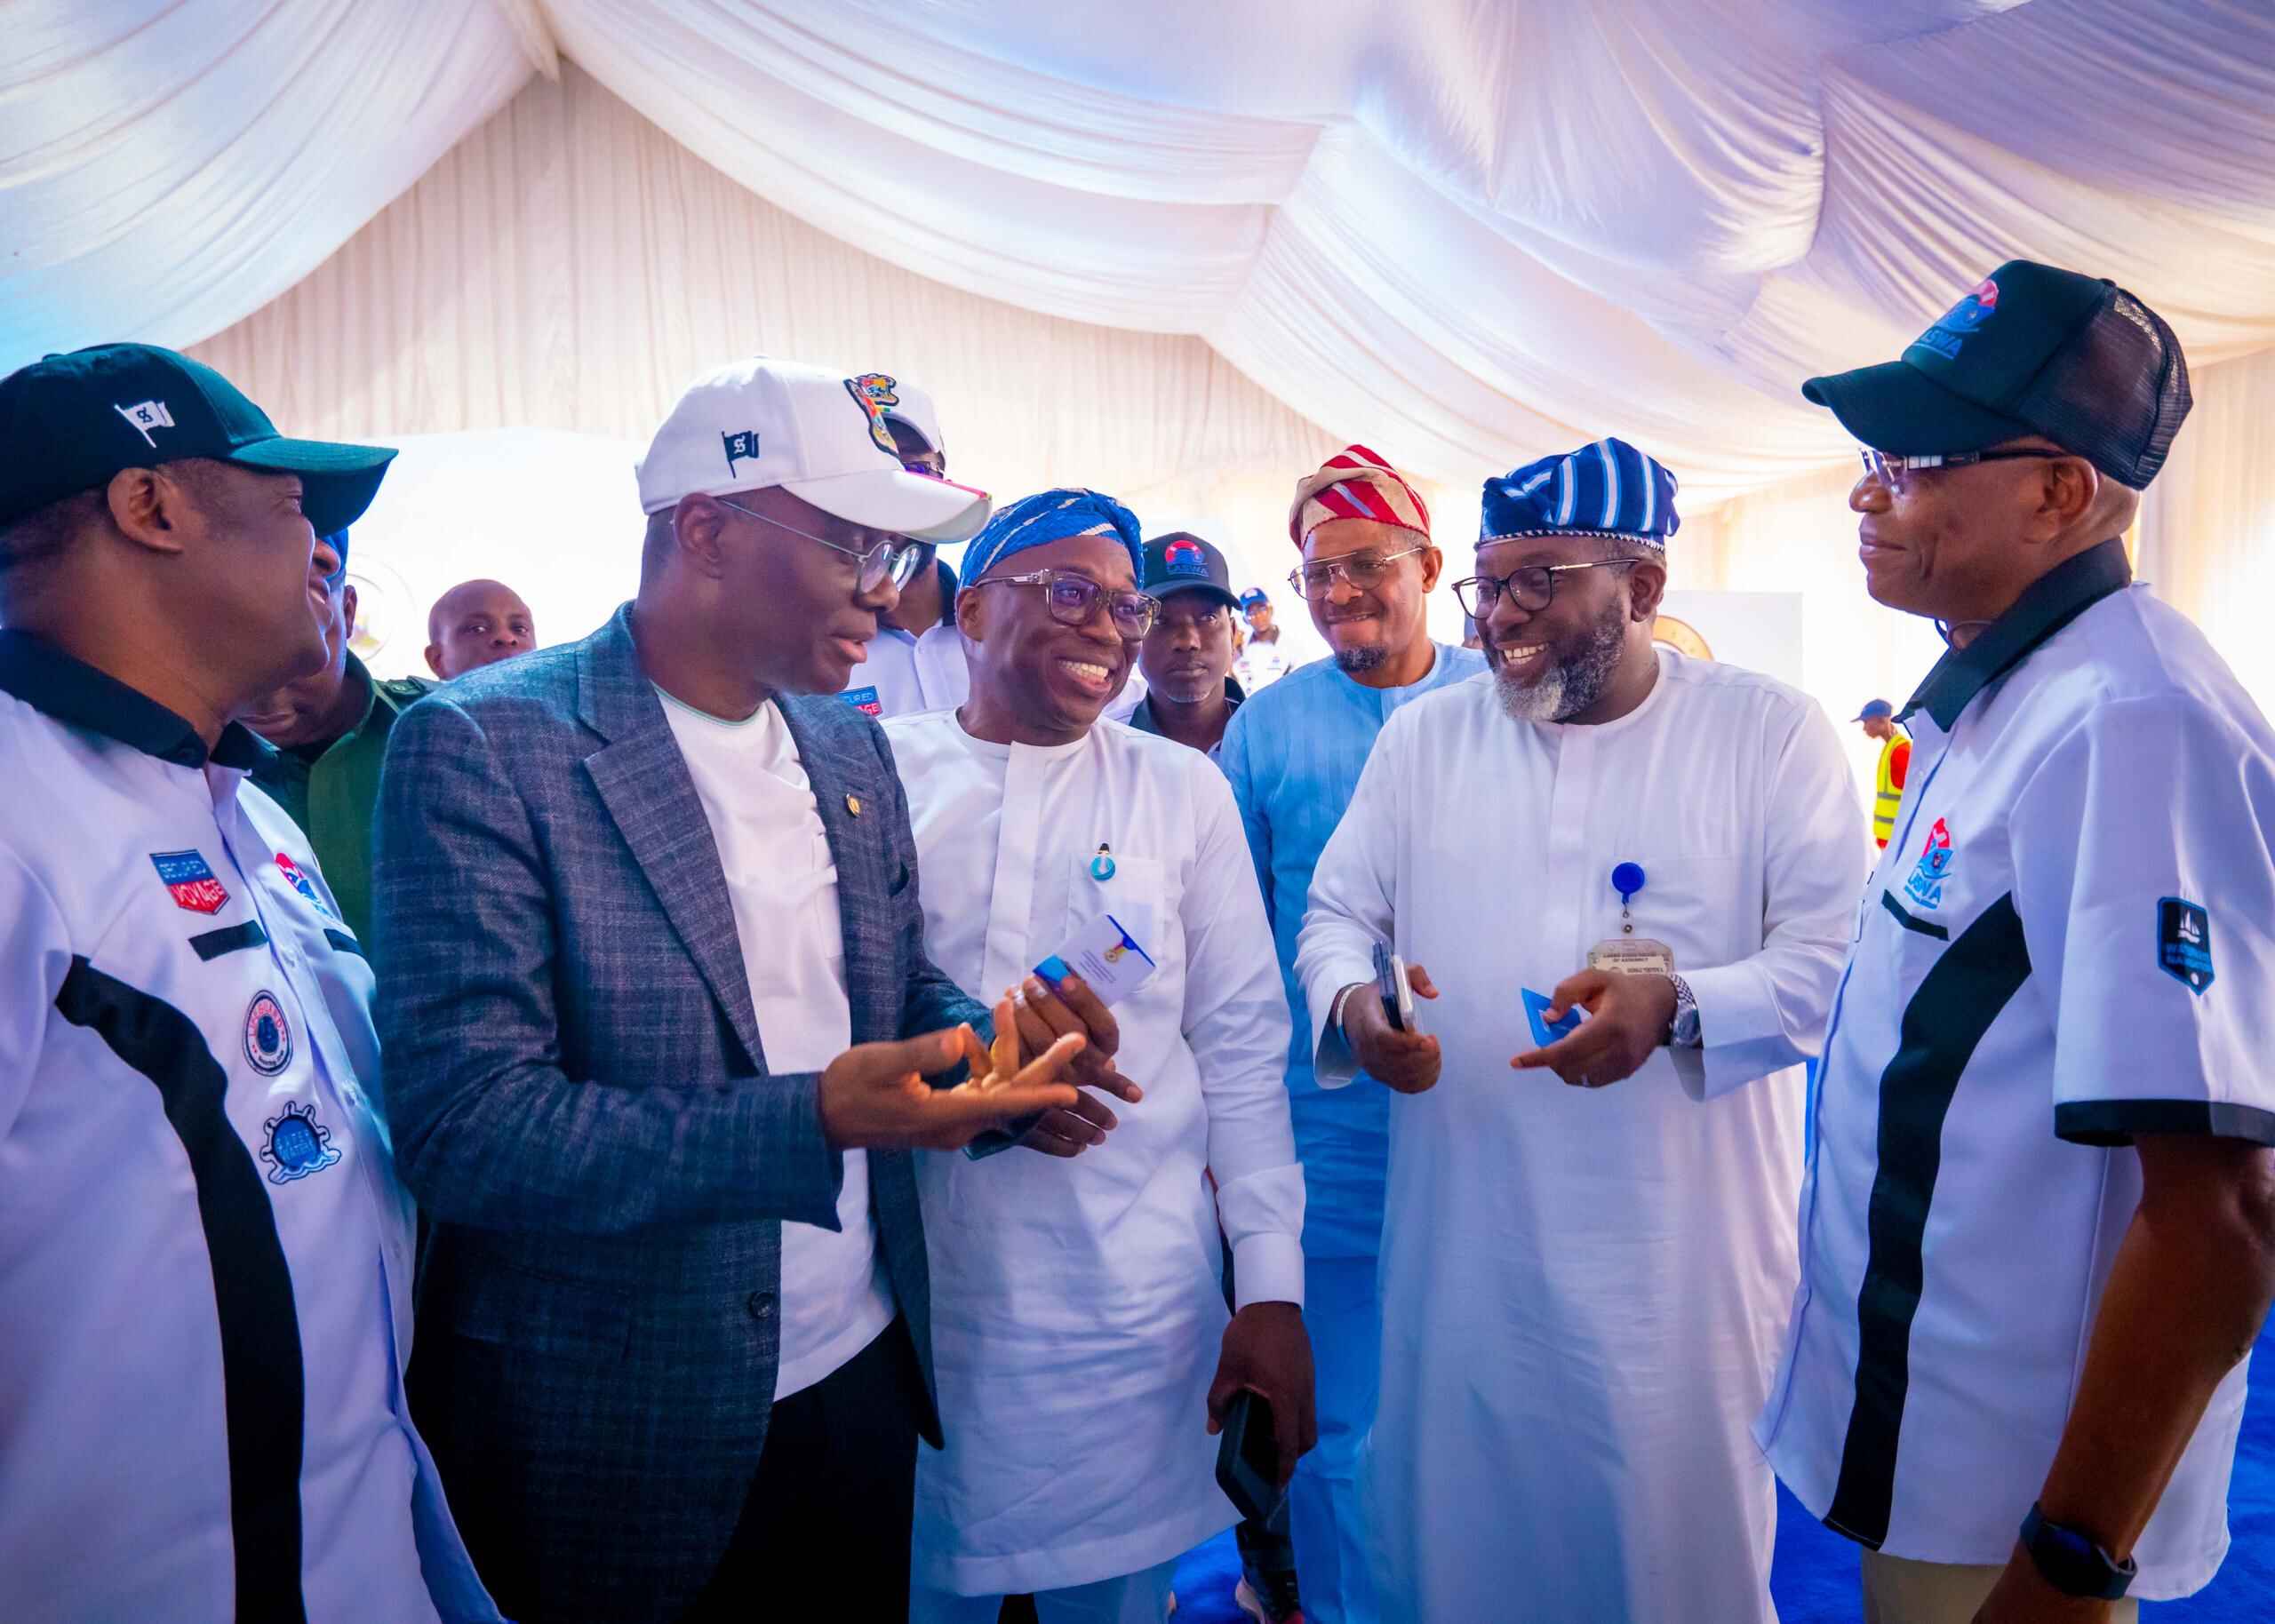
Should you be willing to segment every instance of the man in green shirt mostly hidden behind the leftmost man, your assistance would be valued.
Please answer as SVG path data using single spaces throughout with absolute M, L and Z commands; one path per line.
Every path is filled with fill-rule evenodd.
M 253 769 L 253 782 L 307 832 L 341 917 L 362 937 L 371 923 L 371 810 L 380 798 L 387 732 L 435 685 L 423 678 L 382 682 L 348 651 L 355 637 L 348 532 L 328 537 L 325 546 L 339 553 L 339 569 L 328 582 L 330 657 L 314 676 L 257 701 L 239 721 L 275 746 L 275 755 Z

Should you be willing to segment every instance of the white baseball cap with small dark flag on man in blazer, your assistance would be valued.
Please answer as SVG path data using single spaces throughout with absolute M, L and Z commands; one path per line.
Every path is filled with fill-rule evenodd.
M 767 357 L 719 366 L 687 387 L 648 441 L 639 507 L 660 514 L 682 496 L 778 484 L 869 530 L 917 541 L 974 537 L 987 523 L 987 491 L 903 469 L 885 419 L 905 414 L 901 387 L 885 373 L 849 378 Z

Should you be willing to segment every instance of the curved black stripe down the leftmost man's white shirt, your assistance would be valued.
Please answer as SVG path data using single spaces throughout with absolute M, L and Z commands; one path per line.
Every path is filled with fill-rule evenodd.
M 300 1451 L 307 1383 L 291 1265 L 268 1187 L 223 1110 L 230 1074 L 182 1010 L 71 960 L 57 1012 L 146 1076 L 189 1155 L 214 1262 L 221 1397 L 230 1437 L 237 1617 L 307 1624 L 300 1597 Z

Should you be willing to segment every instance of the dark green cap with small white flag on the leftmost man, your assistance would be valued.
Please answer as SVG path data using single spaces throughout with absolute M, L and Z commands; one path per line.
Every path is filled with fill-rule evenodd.
M 98 343 L 0 378 L 0 530 L 109 484 L 123 469 L 212 457 L 298 473 L 316 535 L 355 523 L 387 475 L 389 446 L 287 439 L 202 362 L 155 343 Z

